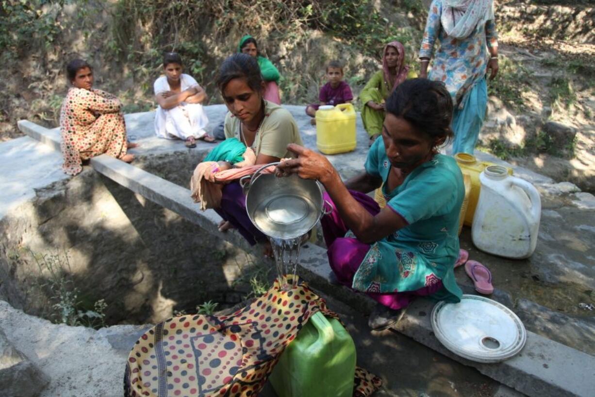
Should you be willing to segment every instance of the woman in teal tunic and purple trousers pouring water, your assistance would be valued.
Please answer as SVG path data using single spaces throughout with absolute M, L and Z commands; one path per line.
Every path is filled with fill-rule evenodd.
M 369 318 L 375 330 L 393 325 L 415 296 L 459 302 L 453 267 L 459 253 L 461 171 L 438 148 L 452 137 L 452 100 L 443 83 L 412 79 L 386 102 L 381 139 L 365 170 L 343 182 L 326 157 L 290 144 L 297 159 L 278 174 L 318 179 L 332 212 L 321 219 L 337 281 L 379 302 Z M 367 193 L 382 185 L 380 210 Z

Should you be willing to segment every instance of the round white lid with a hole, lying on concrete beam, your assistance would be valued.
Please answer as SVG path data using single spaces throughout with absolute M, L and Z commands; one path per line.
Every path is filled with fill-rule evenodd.
M 439 302 L 431 321 L 444 347 L 477 362 L 511 358 L 527 340 L 527 331 L 516 314 L 483 296 L 463 295 L 459 303 Z

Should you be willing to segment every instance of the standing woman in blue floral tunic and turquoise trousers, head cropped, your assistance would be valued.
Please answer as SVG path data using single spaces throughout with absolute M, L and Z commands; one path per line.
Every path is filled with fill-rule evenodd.
M 440 46 L 433 53 L 434 42 Z M 419 49 L 420 77 L 446 84 L 455 111 L 452 153 L 473 154 L 486 117 L 487 85 L 498 72 L 498 41 L 493 0 L 433 0 Z

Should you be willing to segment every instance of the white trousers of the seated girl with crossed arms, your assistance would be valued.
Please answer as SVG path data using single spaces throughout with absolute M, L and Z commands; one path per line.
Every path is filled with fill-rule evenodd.
M 205 110 L 198 103 L 181 103 L 171 109 L 157 108 L 155 133 L 165 139 L 202 138 L 209 123 Z

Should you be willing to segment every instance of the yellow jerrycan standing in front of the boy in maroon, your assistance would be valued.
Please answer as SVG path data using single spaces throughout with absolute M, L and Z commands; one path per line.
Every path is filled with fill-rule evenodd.
M 350 103 L 323 105 L 316 112 L 316 146 L 324 154 L 352 151 L 356 146 L 355 109 Z

